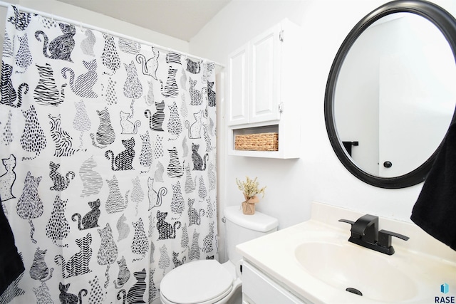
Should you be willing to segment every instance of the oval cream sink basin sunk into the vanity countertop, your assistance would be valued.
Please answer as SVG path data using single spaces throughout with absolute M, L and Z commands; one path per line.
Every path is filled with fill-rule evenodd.
M 363 298 L 397 303 L 418 293 L 408 266 L 395 263 L 394 256 L 338 240 L 301 243 L 294 253 L 314 278 L 340 290 L 354 288 L 352 292 L 360 291 Z

